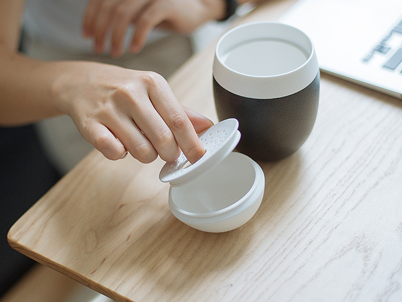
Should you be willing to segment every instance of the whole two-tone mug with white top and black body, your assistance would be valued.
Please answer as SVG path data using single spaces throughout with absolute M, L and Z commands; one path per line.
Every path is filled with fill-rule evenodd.
M 320 72 L 311 39 L 280 23 L 249 23 L 219 40 L 213 65 L 219 120 L 236 118 L 239 152 L 257 161 L 294 153 L 317 116 Z

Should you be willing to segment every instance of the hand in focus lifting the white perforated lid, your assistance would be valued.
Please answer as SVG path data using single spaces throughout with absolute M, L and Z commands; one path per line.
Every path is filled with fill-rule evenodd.
M 128 151 L 142 163 L 158 155 L 172 162 L 181 149 L 194 163 L 204 155 L 196 132 L 213 123 L 183 109 L 161 75 L 92 62 L 58 66 L 70 74 L 53 87 L 59 108 L 108 159 L 121 159 Z

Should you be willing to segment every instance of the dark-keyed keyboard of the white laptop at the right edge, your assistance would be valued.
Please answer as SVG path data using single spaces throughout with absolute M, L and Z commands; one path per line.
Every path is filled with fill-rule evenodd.
M 363 59 L 363 62 L 379 60 L 383 68 L 402 74 L 402 20 Z M 401 70 L 399 70 L 401 69 Z

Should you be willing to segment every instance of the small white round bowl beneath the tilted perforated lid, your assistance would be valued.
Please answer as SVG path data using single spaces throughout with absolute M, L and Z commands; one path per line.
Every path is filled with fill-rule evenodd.
M 264 186 L 261 167 L 249 157 L 232 152 L 191 183 L 170 187 L 169 207 L 174 216 L 194 229 L 226 232 L 255 214 Z

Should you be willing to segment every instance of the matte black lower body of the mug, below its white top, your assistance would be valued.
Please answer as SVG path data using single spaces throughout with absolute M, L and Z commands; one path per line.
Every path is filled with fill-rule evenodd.
M 256 161 L 294 153 L 309 137 L 317 116 L 320 72 L 306 88 L 280 98 L 253 99 L 224 89 L 213 79 L 219 120 L 236 118 L 242 134 L 237 149 Z

